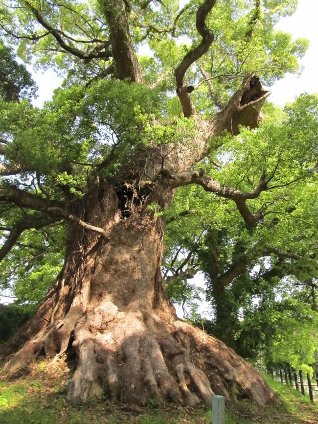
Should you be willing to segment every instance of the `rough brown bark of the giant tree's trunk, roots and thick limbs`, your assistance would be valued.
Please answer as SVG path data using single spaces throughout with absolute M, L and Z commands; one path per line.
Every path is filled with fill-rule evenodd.
M 141 82 L 129 35 L 127 3 L 111 0 L 102 4 L 107 8 L 106 17 L 113 20 L 109 27 L 117 75 Z M 6 375 L 15 375 L 40 354 L 54 358 L 75 351 L 78 361 L 68 386 L 69 401 L 85 401 L 102 392 L 114 401 L 140 405 L 150 399 L 210 405 L 215 393 L 227 400 L 239 393 L 262 406 L 274 400 L 263 378 L 241 357 L 177 319 L 160 271 L 164 223 L 147 208 L 152 202 L 161 208 L 169 206 L 178 186 L 201 184 L 232 199 L 249 225 L 256 225 L 259 219 L 249 211 L 246 200 L 266 189 L 264 178 L 256 190 L 242 193 L 217 184 L 201 171 L 189 171 L 207 154 L 211 136 L 225 129 L 237 134 L 239 125 L 257 126 L 269 94 L 257 77 L 250 75 L 211 121 L 203 121 L 194 111 L 184 75 L 213 42 L 204 20 L 214 3 L 207 0 L 199 7 L 197 29 L 202 43 L 185 56 L 175 72 L 184 115 L 194 115 L 196 120 L 193 143 L 178 148 L 152 146 L 151 152 L 145 151 L 145 157 L 151 156 L 147 181 L 127 176 L 114 183 L 96 177 L 89 194 L 73 204 L 72 210 L 46 205 L 50 216 L 70 222 L 67 259 L 36 315 L 3 346 L 2 354 L 11 355 L 4 366 Z M 17 205 L 28 202 L 17 190 L 5 196 Z M 35 202 L 33 208 L 37 209 Z M 38 210 L 43 211 L 42 202 Z M 22 342 L 23 347 L 13 354 Z

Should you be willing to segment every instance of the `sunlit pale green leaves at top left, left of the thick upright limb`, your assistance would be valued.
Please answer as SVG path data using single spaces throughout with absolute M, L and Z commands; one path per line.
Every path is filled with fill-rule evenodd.
M 9 1 L 4 2 L 6 3 Z M 76 58 L 60 46 L 52 33 L 38 23 L 29 5 L 38 10 L 69 47 L 85 53 L 87 47 L 95 47 L 100 42 L 107 41 L 105 27 L 101 24 L 102 15 L 95 1 L 61 0 L 57 3 L 43 1 L 39 4 L 33 0 L 18 0 L 15 3 L 18 7 L 11 16 L 3 19 L 3 26 L 9 34 L 21 35 L 19 39 L 10 35 L 8 38 L 12 44 L 18 44 L 18 54 L 25 62 L 36 58 L 37 66 L 45 69 L 53 67 L 60 71 L 71 69 L 74 59 L 76 62 Z M 9 7 L 8 9 L 10 10 Z

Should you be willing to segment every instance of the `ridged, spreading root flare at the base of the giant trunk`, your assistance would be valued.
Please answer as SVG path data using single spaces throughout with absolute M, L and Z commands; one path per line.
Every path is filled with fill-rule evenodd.
M 71 402 L 103 394 L 138 405 L 210 405 L 214 394 L 229 401 L 234 393 L 260 406 L 274 400 L 263 378 L 224 343 L 138 301 L 121 309 L 105 301 L 84 314 L 71 309 L 27 342 L 4 372 L 14 375 L 39 354 L 56 358 L 71 349 L 78 358 Z

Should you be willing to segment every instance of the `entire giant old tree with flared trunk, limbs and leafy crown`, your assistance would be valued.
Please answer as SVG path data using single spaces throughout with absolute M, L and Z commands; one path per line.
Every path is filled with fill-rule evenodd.
M 65 245 L 56 283 L 2 349 L 11 355 L 6 374 L 39 354 L 75 351 L 70 401 L 103 391 L 137 404 L 210 403 L 214 393 L 273 400 L 242 358 L 177 319 L 160 270 L 162 212 L 177 188 L 198 185 L 230 200 L 251 231 L 263 219 L 253 201 L 271 188 L 272 174 L 264 169 L 241 189 L 200 163 L 225 132 L 235 136 L 263 120 L 270 92 L 261 80 L 270 85 L 298 71 L 306 42 L 273 30 L 295 3 L 1 3 L 2 51 L 12 66 L 1 73 L 0 257 L 18 260 L 9 280 L 19 257 L 30 271 L 35 250 L 23 252 L 34 245 L 42 244 L 44 258 L 45 247 Z M 23 70 L 9 45 L 65 75 L 41 109 L 27 98 L 32 81 L 17 78 Z

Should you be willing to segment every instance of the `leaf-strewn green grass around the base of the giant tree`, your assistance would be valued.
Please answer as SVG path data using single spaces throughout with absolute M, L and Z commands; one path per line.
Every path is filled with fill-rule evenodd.
M 266 377 L 279 404 L 260 409 L 249 400 L 232 402 L 226 424 L 318 424 L 318 402 Z M 1 424 L 208 424 L 211 410 L 184 406 L 132 408 L 93 400 L 69 405 L 65 400 L 69 370 L 63 362 L 32 364 L 30 374 L 16 381 L 0 381 Z

